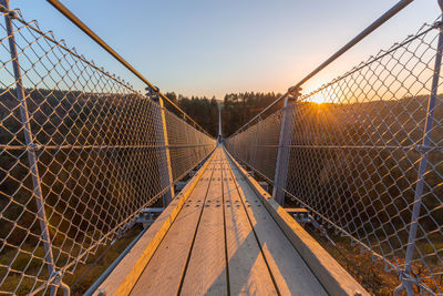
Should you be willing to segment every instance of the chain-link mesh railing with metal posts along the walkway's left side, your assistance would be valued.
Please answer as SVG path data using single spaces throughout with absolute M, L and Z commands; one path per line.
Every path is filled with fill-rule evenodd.
M 215 140 L 0 4 L 0 294 L 68 292 Z

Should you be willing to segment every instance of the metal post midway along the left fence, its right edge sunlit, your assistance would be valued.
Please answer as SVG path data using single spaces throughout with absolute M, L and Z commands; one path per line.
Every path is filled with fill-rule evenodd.
M 174 191 L 174 178 L 173 178 L 173 170 L 171 166 L 171 151 L 169 151 L 169 141 L 167 139 L 167 129 L 166 129 L 166 115 L 165 108 L 163 103 L 163 99 L 158 95 L 156 91 L 152 88 L 147 88 L 150 91 L 150 98 L 154 102 L 158 103 L 158 112 L 159 118 L 162 120 L 162 127 L 156 129 L 156 141 L 158 143 L 163 143 L 164 147 L 159 149 L 159 153 L 157 155 L 158 163 L 158 173 L 159 173 L 159 183 L 163 188 L 169 187 L 168 191 L 163 195 L 163 206 L 166 207 L 175 195 Z M 166 164 L 164 163 L 166 160 Z

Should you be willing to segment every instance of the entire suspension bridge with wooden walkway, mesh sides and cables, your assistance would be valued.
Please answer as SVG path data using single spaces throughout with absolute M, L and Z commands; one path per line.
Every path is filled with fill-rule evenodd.
M 301 92 L 398 2 L 228 137 L 219 106 L 215 139 L 48 2 L 147 93 L 0 1 L 1 294 L 379 294 L 361 264 L 394 295 L 442 294 L 441 16 Z

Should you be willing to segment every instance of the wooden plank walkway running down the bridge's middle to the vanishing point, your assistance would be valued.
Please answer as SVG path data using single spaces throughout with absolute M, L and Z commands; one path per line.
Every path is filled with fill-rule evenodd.
M 328 295 L 241 170 L 218 146 L 189 182 L 194 184 L 184 188 L 96 293 Z M 165 232 L 161 225 L 179 204 L 176 218 L 158 239 L 156 235 Z M 150 258 L 143 258 L 146 253 L 152 253 Z M 336 271 L 343 273 L 340 285 L 348 288 L 346 294 L 363 292 L 343 269 Z

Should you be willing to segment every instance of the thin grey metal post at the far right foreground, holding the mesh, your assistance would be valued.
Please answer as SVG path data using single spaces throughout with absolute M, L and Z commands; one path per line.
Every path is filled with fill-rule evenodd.
M 439 0 L 440 9 L 443 11 L 443 0 Z M 412 282 L 410 277 L 412 272 L 412 259 L 414 256 L 415 251 L 415 241 L 416 241 L 416 231 L 419 227 L 419 218 L 420 218 L 420 208 L 422 205 L 422 197 L 423 197 L 423 186 L 424 186 L 424 176 L 427 172 L 427 154 L 429 147 L 431 144 L 431 131 L 434 123 L 434 111 L 435 111 L 435 100 L 437 96 L 439 90 L 439 79 L 440 79 L 440 70 L 442 65 L 442 50 L 443 50 L 443 16 L 441 22 L 439 23 L 439 41 L 437 48 L 435 53 L 435 64 L 434 64 L 434 74 L 432 78 L 432 89 L 431 95 L 427 102 L 427 111 L 426 111 L 426 121 L 424 125 L 424 134 L 423 134 L 423 142 L 422 146 L 419 149 L 421 152 L 421 159 L 419 164 L 419 173 L 418 173 L 418 182 L 415 186 L 415 195 L 414 195 L 414 206 L 412 208 L 412 217 L 411 217 L 411 226 L 409 229 L 409 237 L 408 237 L 408 248 L 405 255 L 405 263 L 404 263 L 404 275 L 402 275 L 402 284 L 398 286 L 394 290 L 394 295 L 399 295 L 399 292 L 405 289 L 408 295 L 414 295 L 412 288 Z

